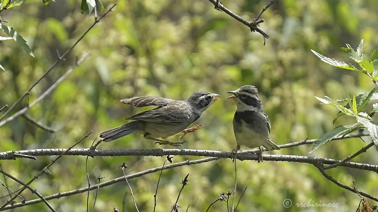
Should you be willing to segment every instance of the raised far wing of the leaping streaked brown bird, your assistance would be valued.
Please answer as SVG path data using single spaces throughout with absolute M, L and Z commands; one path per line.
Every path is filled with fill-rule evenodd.
M 170 98 L 164 97 L 133 97 L 122 99 L 121 102 L 124 104 L 131 104 L 136 108 L 146 107 L 146 106 L 166 106 L 167 104 L 175 101 Z

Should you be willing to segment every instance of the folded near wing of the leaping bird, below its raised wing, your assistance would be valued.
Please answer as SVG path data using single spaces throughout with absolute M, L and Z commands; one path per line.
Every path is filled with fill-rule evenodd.
M 174 101 L 167 106 L 144 111 L 125 119 L 155 123 L 182 123 L 190 118 L 189 115 L 191 113 L 189 107 L 190 106 L 183 101 Z

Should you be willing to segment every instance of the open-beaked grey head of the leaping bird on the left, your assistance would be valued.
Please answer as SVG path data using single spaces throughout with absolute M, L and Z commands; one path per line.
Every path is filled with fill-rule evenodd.
M 197 91 L 192 94 L 186 101 L 188 101 L 195 108 L 199 109 L 201 112 L 208 109 L 211 103 L 218 101 L 220 97 L 219 94 L 212 94 L 206 91 Z

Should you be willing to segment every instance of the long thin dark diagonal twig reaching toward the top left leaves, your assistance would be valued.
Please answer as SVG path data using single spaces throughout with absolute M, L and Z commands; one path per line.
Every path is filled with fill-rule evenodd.
M 9 1 L 9 2 L 11 2 L 11 1 Z M 3 120 L 3 118 L 5 118 L 6 117 L 6 115 L 8 115 L 9 114 L 9 112 L 11 112 L 14 108 L 15 108 L 15 106 L 17 106 L 17 104 L 19 104 L 20 103 L 20 101 L 23 99 L 23 98 L 25 98 L 28 94 L 29 94 L 29 92 L 34 88 L 34 86 L 36 86 L 38 83 L 39 83 L 39 81 L 41 81 L 51 70 L 53 70 L 59 63 L 60 63 L 60 61 L 61 60 L 63 60 L 66 56 L 67 56 L 67 54 L 77 45 L 77 43 L 79 43 L 83 38 L 84 38 L 84 36 L 96 25 L 96 23 L 98 23 L 102 18 L 104 18 L 105 17 L 105 15 L 107 15 L 110 11 L 112 11 L 112 9 L 116 6 L 117 4 L 114 4 L 113 6 L 111 6 L 106 12 L 104 12 L 104 14 L 102 14 L 101 15 L 101 17 L 99 17 L 98 19 L 96 18 L 95 19 L 95 22 L 87 29 L 87 31 L 85 31 L 84 32 L 84 34 L 83 35 L 81 35 L 81 37 L 79 38 L 79 39 L 77 39 L 77 41 L 70 47 L 70 48 L 68 48 L 67 49 L 67 51 L 66 52 L 64 52 L 64 54 L 61 56 L 61 57 L 59 57 L 56 61 L 55 61 L 55 63 L 53 64 L 53 65 L 51 65 L 51 67 L 49 68 L 49 69 L 47 69 L 47 71 L 45 72 L 45 73 L 43 73 L 42 74 L 42 76 L 40 76 L 39 78 L 38 78 L 38 80 L 37 81 L 35 81 L 31 86 L 30 86 L 30 88 L 8 109 L 8 111 L 6 111 L 5 112 L 5 114 L 3 114 L 2 115 L 2 117 L 0 117 L 0 121 L 1 120 Z M 1 11 L 0 11 L 1 12 Z M 1 126 L 0 126 L 1 127 Z

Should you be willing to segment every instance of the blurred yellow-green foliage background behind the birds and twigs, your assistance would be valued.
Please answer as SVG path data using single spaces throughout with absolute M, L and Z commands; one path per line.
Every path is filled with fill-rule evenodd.
M 252 20 L 267 0 L 223 0 L 223 5 L 246 20 Z M 119 102 L 135 96 L 162 96 L 185 99 L 204 90 L 227 97 L 227 91 L 245 84 L 259 88 L 264 109 L 270 117 L 270 138 L 276 144 L 305 138 L 319 138 L 334 128 L 337 113 L 322 106 L 314 96 L 332 99 L 369 92 L 374 84 L 366 75 L 338 69 L 319 60 L 310 49 L 338 60 L 352 62 L 340 48 L 350 43 L 356 48 L 364 39 L 365 52 L 377 48 L 378 2 L 376 0 L 277 0 L 262 15 L 260 28 L 270 35 L 266 45 L 257 32 L 234 18 L 214 9 L 208 0 L 141 0 L 103 1 L 105 9 L 117 3 L 113 12 L 101 20 L 67 57 L 44 78 L 29 95 L 34 101 L 74 64 L 76 56 L 91 52 L 53 94 L 32 108 L 28 115 L 56 130 L 37 128 L 23 117 L 0 129 L 0 151 L 65 148 L 90 130 L 89 138 L 77 147 L 89 147 L 98 134 L 127 123 L 123 120 L 146 108 L 132 108 Z M 1 13 L 2 18 L 28 41 L 35 57 L 26 54 L 14 41 L 0 43 L 0 106 L 12 105 L 29 86 L 45 72 L 93 23 L 94 14 L 81 14 L 80 1 L 57 1 L 43 5 L 42 0 L 28 0 L 21 6 Z M 5 36 L 2 34 L 2 36 Z M 22 101 L 26 106 L 27 100 Z M 204 112 L 195 123 L 204 127 L 186 135 L 187 149 L 231 151 L 236 146 L 232 117 L 236 106 L 222 98 Z M 17 107 L 21 109 L 21 106 Z M 17 109 L 14 110 L 17 111 Z M 354 123 L 343 116 L 336 125 Z M 174 141 L 176 137 L 171 138 Z M 370 142 L 369 137 L 363 138 Z M 331 141 L 308 154 L 312 145 L 274 151 L 271 154 L 293 154 L 343 159 L 365 146 L 359 138 Z M 166 146 L 169 148 L 169 146 Z M 102 143 L 99 149 L 165 148 L 133 134 Z M 242 147 L 242 149 L 245 147 Z M 4 171 L 26 182 L 45 167 L 52 158 L 37 161 L 19 158 L 1 161 Z M 84 156 L 65 156 L 50 171 L 31 185 L 42 195 L 87 186 Z M 95 178 L 110 180 L 122 176 L 119 165 L 128 165 L 127 173 L 161 166 L 165 157 L 95 157 L 88 159 L 91 184 Z M 199 157 L 174 156 L 173 161 Z M 378 153 L 370 148 L 353 159 L 377 164 Z M 310 164 L 264 161 L 237 161 L 237 197 L 245 186 L 239 211 L 354 211 L 360 198 L 326 180 Z M 376 196 L 376 173 L 344 167 L 327 171 L 332 177 Z M 234 186 L 234 165 L 229 159 L 182 166 L 163 171 L 156 211 L 168 211 L 181 188 L 180 181 L 189 175 L 190 185 L 181 193 L 180 211 L 205 211 L 221 192 Z M 153 195 L 159 172 L 129 180 L 140 211 L 153 210 Z M 3 179 L 3 176 L 0 177 Z M 8 179 L 13 190 L 20 186 Z M 4 187 L 0 195 L 6 195 Z M 28 190 L 28 199 L 37 198 Z M 95 192 L 90 193 L 93 205 Z M 0 199 L 3 203 L 8 198 Z M 283 207 L 291 199 L 293 206 Z M 295 203 L 338 203 L 338 208 L 297 208 Z M 19 199 L 16 199 L 20 201 Z M 59 211 L 84 211 L 87 194 L 76 194 L 49 201 Z M 376 203 L 372 203 L 376 204 Z M 135 211 L 126 182 L 100 188 L 95 211 Z M 226 211 L 226 203 L 215 203 L 210 211 Z M 48 211 L 43 203 L 14 211 Z

